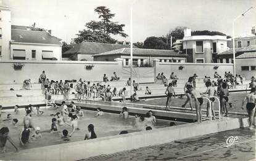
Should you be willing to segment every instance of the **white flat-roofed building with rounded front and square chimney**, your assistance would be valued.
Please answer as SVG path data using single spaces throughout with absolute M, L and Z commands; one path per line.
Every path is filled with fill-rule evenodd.
M 191 29 L 184 29 L 183 53 L 188 63 L 217 63 L 217 54 L 228 49 L 226 36 L 191 36 Z

